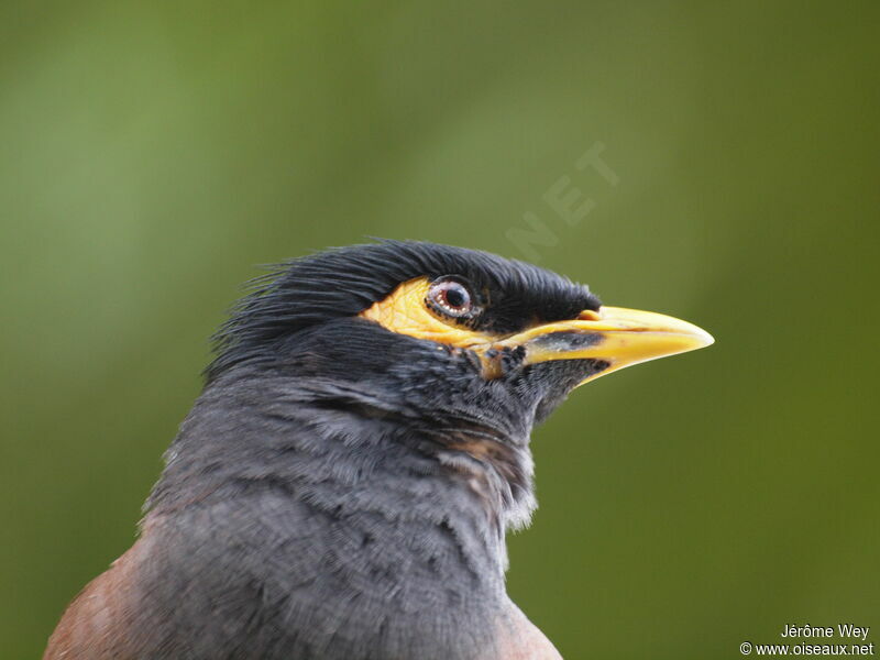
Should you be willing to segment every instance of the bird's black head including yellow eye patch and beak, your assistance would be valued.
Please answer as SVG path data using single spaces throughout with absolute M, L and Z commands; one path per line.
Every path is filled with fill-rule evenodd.
M 382 241 L 282 264 L 217 336 L 209 385 L 242 366 L 316 398 L 522 441 L 579 385 L 713 342 L 668 316 L 607 307 L 531 264 Z

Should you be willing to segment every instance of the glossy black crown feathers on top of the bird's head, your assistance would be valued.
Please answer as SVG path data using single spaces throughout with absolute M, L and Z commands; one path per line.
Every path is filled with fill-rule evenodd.
M 263 356 L 296 332 L 353 317 L 415 277 L 455 275 L 470 283 L 483 314 L 472 328 L 507 333 L 536 321 L 598 309 L 587 287 L 532 264 L 487 252 L 416 241 L 381 241 L 290 260 L 254 279 L 252 293 L 215 336 L 208 382 Z

